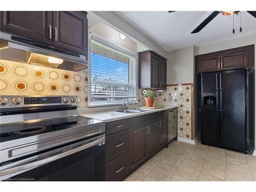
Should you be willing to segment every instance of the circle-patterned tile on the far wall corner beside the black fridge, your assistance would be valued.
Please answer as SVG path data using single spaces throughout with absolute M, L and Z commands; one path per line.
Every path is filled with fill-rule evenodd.
M 178 137 L 194 139 L 193 134 L 193 83 L 174 84 L 157 93 L 157 103 L 178 105 Z

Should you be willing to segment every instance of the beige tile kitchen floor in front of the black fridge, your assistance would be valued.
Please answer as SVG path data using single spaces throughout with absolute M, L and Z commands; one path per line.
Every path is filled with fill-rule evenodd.
M 125 181 L 256 181 L 256 156 L 174 140 Z

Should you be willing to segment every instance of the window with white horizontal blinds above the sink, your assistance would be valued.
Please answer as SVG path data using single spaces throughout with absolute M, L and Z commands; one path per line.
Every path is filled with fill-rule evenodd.
M 92 36 L 89 105 L 136 100 L 136 59 L 136 55 Z

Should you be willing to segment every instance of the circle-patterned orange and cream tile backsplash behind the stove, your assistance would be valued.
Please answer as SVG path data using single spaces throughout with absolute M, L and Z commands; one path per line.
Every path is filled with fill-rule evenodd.
M 73 72 L 0 59 L 1 95 L 77 95 L 88 106 L 88 71 Z

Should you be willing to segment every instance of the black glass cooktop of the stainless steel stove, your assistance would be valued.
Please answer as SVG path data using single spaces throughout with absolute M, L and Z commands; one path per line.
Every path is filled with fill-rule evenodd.
M 79 127 L 82 129 L 90 129 L 94 125 L 99 126 L 104 124 L 103 121 L 91 119 L 83 116 L 70 116 L 63 118 L 53 118 L 47 120 L 32 121 L 28 123 L 17 123 L 13 125 L 4 125 L 0 128 L 0 141 L 6 142 L 25 137 L 36 135 L 43 135 L 46 133 L 53 133 L 58 131 L 67 131 L 72 133 L 72 130 Z M 65 133 L 65 132 L 64 132 Z

